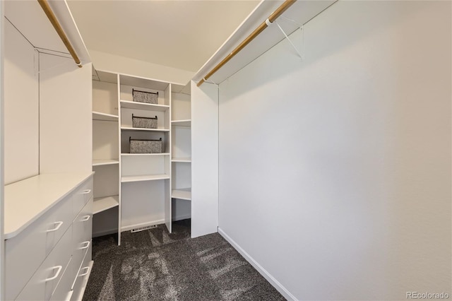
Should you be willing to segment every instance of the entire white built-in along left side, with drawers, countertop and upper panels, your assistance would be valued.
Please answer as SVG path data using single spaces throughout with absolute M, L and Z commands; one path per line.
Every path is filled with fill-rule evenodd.
M 2 3 L 1 300 L 81 300 L 93 264 L 92 66 L 66 1 L 50 2 L 82 68 L 37 1 Z

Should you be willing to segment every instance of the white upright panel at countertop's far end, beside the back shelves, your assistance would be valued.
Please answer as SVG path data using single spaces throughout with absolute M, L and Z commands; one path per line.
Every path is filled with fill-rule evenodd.
M 40 173 L 91 170 L 91 69 L 40 54 Z

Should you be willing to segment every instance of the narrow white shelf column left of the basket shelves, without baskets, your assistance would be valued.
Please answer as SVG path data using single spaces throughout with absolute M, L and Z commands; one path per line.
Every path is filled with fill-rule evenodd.
M 119 235 L 118 76 L 93 70 L 93 236 Z

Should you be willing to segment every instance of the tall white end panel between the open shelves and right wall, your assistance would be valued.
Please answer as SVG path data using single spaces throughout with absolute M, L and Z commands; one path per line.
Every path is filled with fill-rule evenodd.
M 218 86 L 191 81 L 191 237 L 218 228 Z

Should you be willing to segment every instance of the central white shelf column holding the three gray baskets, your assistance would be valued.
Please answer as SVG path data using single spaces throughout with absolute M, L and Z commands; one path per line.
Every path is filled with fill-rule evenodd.
M 119 75 L 121 230 L 167 223 L 171 210 L 171 84 Z M 132 90 L 158 93 L 157 103 L 133 102 Z M 135 117 L 157 117 L 157 129 L 134 128 Z M 130 153 L 129 138 L 158 140 L 162 153 Z

